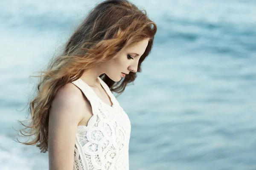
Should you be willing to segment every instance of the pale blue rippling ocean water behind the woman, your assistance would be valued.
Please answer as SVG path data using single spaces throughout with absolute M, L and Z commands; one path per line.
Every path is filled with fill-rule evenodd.
M 157 23 L 134 85 L 117 97 L 131 119 L 131 170 L 256 170 L 256 1 L 140 0 Z M 0 169 L 47 170 L 15 142 L 29 76 L 72 33 L 89 0 L 0 1 Z

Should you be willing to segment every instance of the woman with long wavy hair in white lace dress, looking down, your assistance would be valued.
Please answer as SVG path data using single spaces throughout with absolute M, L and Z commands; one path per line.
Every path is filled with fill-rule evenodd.
M 127 0 L 99 3 L 40 75 L 20 130 L 36 138 L 21 143 L 48 151 L 50 170 L 128 170 L 131 124 L 112 91 L 135 80 L 156 31 Z

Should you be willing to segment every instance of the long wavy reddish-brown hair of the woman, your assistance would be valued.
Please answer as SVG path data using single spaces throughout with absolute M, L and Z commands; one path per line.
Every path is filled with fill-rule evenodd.
M 19 121 L 24 126 L 19 130 L 22 134 L 19 136 L 35 136 L 35 139 L 18 142 L 36 144 L 41 152 L 46 153 L 49 109 L 57 91 L 67 83 L 79 79 L 84 71 L 114 59 L 125 48 L 149 38 L 148 46 L 138 64 L 137 72 L 141 72 L 141 63 L 151 51 L 156 31 L 157 26 L 148 18 L 146 11 L 127 0 L 105 0 L 97 4 L 76 28 L 61 54 L 52 58 L 47 69 L 35 76 L 40 77 L 40 80 L 35 97 L 29 101 L 31 118 Z M 100 75 L 111 91 L 117 94 L 121 94 L 126 85 L 136 77 L 136 73 L 130 72 L 119 82 L 114 82 L 107 75 Z

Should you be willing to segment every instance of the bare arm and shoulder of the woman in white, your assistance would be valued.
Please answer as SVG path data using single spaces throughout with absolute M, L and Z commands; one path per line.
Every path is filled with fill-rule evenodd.
M 86 102 L 72 83 L 57 92 L 49 111 L 49 170 L 73 170 L 77 126 L 90 115 Z

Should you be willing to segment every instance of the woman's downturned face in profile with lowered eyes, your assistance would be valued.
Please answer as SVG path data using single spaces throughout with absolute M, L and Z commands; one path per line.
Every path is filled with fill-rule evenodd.
M 142 40 L 122 53 L 116 54 L 115 59 L 106 63 L 105 74 L 114 82 L 119 82 L 122 79 L 122 73 L 129 74 L 130 71 L 136 73 L 139 59 L 148 46 L 148 40 Z

